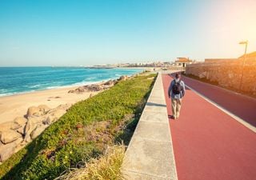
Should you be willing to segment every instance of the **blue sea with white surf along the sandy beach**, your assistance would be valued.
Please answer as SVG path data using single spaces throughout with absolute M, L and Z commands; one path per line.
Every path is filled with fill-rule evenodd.
M 0 96 L 78 86 L 132 75 L 142 69 L 89 69 L 84 67 L 0 67 Z

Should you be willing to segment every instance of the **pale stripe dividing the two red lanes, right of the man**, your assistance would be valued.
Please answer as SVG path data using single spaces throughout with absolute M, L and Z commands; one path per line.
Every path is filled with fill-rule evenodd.
M 187 86 L 187 85 L 186 85 Z M 197 90 L 194 90 L 192 87 L 187 86 L 190 90 L 193 90 L 195 94 L 198 94 L 201 98 L 205 99 L 207 102 L 210 102 L 210 104 L 216 106 L 219 110 L 222 110 L 224 113 L 228 114 L 230 117 L 234 118 L 236 121 L 240 122 L 243 126 L 246 126 L 248 129 L 252 130 L 254 133 L 256 133 L 256 127 L 250 125 L 250 123 L 246 122 L 242 118 L 239 118 L 237 115 L 231 113 L 229 110 L 226 110 L 224 107 L 219 106 L 216 102 L 210 100 L 210 98 L 206 98 L 206 96 L 200 94 Z

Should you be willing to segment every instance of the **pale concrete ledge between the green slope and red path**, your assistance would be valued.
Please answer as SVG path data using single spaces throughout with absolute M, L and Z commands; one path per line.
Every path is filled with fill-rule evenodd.
M 130 141 L 122 172 L 126 179 L 177 180 L 162 74 L 154 83 Z

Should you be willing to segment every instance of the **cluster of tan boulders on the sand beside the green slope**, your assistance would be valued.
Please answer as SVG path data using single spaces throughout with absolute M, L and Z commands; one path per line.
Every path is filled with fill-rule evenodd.
M 13 122 L 0 124 L 0 162 L 6 161 L 12 154 L 26 146 L 51 123 L 58 120 L 72 106 L 63 104 L 54 109 L 46 105 L 31 106 L 26 118 L 17 117 Z

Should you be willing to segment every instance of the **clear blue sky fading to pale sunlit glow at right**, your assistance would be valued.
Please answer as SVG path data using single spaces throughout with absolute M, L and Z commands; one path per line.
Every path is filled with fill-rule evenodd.
M 0 0 L 0 66 L 238 58 L 255 0 Z

